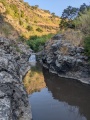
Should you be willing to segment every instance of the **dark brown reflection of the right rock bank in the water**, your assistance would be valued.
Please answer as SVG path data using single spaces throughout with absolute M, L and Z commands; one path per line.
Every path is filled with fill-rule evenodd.
M 90 120 L 90 86 L 85 86 L 77 81 L 60 78 L 43 69 L 43 74 L 48 90 L 54 99 L 77 106 L 80 114 Z

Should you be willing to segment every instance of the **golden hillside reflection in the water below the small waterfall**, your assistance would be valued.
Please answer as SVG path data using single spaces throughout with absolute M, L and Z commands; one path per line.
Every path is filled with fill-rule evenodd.
M 31 70 L 28 71 L 24 77 L 24 86 L 28 94 L 40 91 L 46 86 L 41 65 L 39 63 L 36 63 L 36 66 L 33 65 L 31 67 Z

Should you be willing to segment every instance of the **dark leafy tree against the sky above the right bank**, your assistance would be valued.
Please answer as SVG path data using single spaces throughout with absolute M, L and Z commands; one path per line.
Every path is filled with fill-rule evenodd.
M 60 29 L 66 29 L 66 28 L 74 29 L 75 28 L 74 20 L 80 17 L 82 14 L 85 14 L 85 12 L 89 9 L 90 9 L 90 5 L 86 5 L 85 3 L 83 3 L 80 6 L 80 8 L 68 6 L 66 9 L 64 9 L 62 13 Z

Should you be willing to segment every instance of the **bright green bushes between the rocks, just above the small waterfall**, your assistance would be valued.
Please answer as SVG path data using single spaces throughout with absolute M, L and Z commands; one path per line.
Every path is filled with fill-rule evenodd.
M 39 36 L 31 36 L 29 40 L 27 40 L 27 44 L 30 46 L 32 50 L 35 52 L 38 52 L 42 50 L 43 46 L 45 45 L 45 42 L 50 39 L 53 35 L 43 35 L 41 37 Z

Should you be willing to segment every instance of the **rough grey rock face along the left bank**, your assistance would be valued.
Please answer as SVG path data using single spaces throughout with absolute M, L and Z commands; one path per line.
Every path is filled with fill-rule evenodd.
M 0 37 L 0 120 L 31 120 L 22 78 L 30 69 L 31 50 Z

